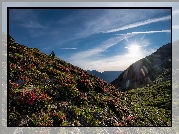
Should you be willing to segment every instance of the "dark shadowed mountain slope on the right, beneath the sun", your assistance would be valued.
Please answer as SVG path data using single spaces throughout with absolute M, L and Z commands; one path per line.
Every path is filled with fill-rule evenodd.
M 111 82 L 121 91 L 152 85 L 164 71 L 171 72 L 171 43 L 163 45 L 156 52 L 130 65 Z M 170 74 L 171 79 L 171 74 Z

